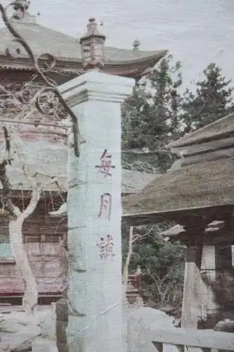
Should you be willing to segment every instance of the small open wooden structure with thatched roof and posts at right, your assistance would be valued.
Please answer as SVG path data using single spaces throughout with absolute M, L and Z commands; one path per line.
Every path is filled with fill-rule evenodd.
M 179 160 L 143 191 L 124 197 L 123 217 L 129 225 L 178 224 L 165 235 L 187 246 L 182 326 L 197 328 L 204 320 L 214 327 L 234 313 L 233 301 L 225 312 L 212 290 L 215 280 L 233 279 L 234 114 L 168 147 Z M 230 298 L 228 290 L 219 294 Z

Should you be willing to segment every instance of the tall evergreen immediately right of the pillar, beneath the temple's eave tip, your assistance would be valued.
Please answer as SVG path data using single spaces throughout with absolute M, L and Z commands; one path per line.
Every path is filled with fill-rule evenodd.
M 160 171 L 171 165 L 171 156 L 164 146 L 178 133 L 180 69 L 179 62 L 173 65 L 172 56 L 164 57 L 122 107 L 122 149 L 140 151 L 144 161 L 147 158 Z

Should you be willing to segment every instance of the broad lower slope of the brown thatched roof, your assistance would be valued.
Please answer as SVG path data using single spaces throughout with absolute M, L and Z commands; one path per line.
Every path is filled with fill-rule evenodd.
M 143 191 L 124 197 L 124 215 L 234 206 L 233 175 L 232 158 L 169 170 Z

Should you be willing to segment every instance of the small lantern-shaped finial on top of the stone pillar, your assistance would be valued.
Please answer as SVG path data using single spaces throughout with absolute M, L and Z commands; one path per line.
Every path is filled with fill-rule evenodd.
M 103 68 L 105 65 L 104 56 L 105 35 L 98 31 L 95 18 L 89 18 L 87 32 L 79 39 L 82 46 L 82 61 L 84 68 Z

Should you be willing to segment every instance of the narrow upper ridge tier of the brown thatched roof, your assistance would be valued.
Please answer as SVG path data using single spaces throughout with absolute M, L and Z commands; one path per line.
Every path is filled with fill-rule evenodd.
M 234 135 L 234 113 L 224 116 L 207 126 L 192 133 L 186 134 L 183 138 L 170 143 L 167 148 L 181 148 L 191 144 L 200 144 L 211 140 L 221 139 Z

